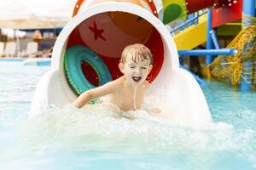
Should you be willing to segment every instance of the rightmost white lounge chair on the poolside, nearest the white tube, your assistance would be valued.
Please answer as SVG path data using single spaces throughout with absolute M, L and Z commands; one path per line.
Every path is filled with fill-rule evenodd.
M 20 53 L 21 57 L 35 58 L 43 53 L 38 51 L 38 42 L 28 42 L 26 44 L 26 50 Z

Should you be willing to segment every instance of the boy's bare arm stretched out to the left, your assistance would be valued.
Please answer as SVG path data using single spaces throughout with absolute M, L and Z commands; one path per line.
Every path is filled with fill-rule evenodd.
M 98 98 L 108 94 L 113 94 L 114 89 L 117 86 L 117 83 L 118 82 L 113 81 L 113 82 L 108 82 L 101 87 L 92 88 L 84 92 L 83 94 L 79 95 L 79 98 L 73 102 L 73 105 L 75 105 L 78 108 L 81 108 L 88 101 L 90 101 L 90 99 Z

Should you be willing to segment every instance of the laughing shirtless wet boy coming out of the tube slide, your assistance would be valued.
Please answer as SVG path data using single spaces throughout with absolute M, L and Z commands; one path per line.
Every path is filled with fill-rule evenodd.
M 149 87 L 146 78 L 152 70 L 151 62 L 152 54 L 143 44 L 128 45 L 119 62 L 119 70 L 124 76 L 84 92 L 74 105 L 81 108 L 90 99 L 108 95 L 109 103 L 118 106 L 120 111 L 139 109 Z

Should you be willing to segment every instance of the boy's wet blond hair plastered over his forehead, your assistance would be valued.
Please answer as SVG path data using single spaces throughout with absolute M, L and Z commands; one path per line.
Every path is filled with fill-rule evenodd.
M 121 55 L 120 63 L 126 62 L 126 57 L 131 54 L 132 60 L 137 63 L 137 61 L 140 59 L 141 61 L 145 59 L 150 60 L 150 64 L 152 64 L 152 54 L 146 46 L 144 46 L 141 43 L 136 43 L 132 45 L 128 45 L 123 50 L 123 53 Z

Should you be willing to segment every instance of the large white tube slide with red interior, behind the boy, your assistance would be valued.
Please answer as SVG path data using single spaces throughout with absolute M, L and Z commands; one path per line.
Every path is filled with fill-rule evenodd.
M 42 113 L 48 105 L 61 108 L 87 89 L 120 77 L 122 49 L 140 42 L 154 55 L 147 97 L 164 103 L 161 109 L 172 121 L 212 122 L 199 84 L 179 68 L 177 47 L 158 11 L 150 0 L 78 1 L 73 19 L 55 42 L 51 69 L 38 82 L 31 114 Z

